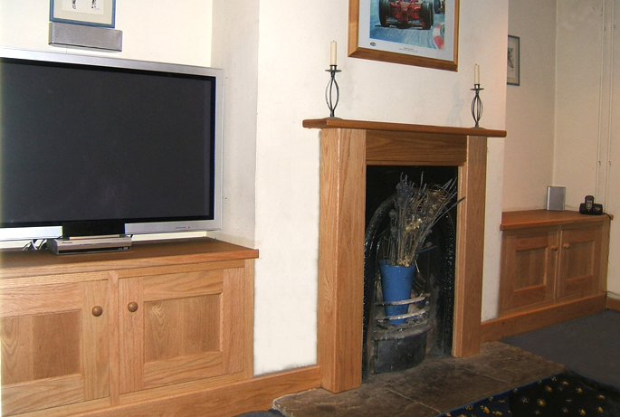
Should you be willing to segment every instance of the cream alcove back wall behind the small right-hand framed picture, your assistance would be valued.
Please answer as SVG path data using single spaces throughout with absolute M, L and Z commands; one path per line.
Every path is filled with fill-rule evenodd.
M 510 1 L 508 33 L 520 37 L 520 85 L 506 91 L 502 206 L 541 209 L 548 185 L 562 185 L 553 182 L 556 1 Z

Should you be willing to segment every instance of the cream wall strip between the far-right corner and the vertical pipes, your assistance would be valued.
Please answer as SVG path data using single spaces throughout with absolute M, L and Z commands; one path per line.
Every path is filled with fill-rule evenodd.
M 599 130 L 605 3 L 558 2 L 554 180 L 567 186 L 573 209 L 585 195 L 597 196 L 598 147 L 607 140 Z

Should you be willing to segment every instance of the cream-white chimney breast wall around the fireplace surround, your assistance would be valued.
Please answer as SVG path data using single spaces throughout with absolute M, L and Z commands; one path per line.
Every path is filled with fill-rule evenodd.
M 282 19 L 288 5 L 260 5 L 256 374 L 316 363 L 319 132 L 301 122 L 329 116 L 329 42 L 339 44 L 340 118 L 471 127 L 474 63 L 485 88 L 482 126 L 504 128 L 505 118 L 507 1 L 461 2 L 458 72 L 347 58 L 347 1 L 300 3 L 294 24 Z M 497 243 L 503 144 L 491 142 L 487 240 Z M 485 280 L 497 280 L 499 246 L 486 249 Z

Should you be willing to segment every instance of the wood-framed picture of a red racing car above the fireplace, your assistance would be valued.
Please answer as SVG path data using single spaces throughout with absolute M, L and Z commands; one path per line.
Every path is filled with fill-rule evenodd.
M 458 36 L 459 0 L 348 3 L 348 56 L 456 71 Z

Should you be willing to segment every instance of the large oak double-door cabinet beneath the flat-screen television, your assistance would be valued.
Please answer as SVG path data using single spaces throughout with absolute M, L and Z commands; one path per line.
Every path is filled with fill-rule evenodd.
M 251 378 L 256 257 L 208 239 L 2 253 L 3 414 L 121 412 L 166 395 L 182 404 Z

